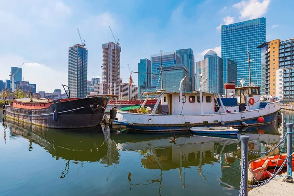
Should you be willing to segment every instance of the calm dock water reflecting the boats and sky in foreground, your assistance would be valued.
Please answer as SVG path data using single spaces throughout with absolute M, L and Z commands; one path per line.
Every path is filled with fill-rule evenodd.
M 283 121 L 294 122 L 293 114 L 283 112 Z M 169 143 L 171 135 L 109 132 L 107 127 L 84 131 L 24 127 L 1 117 L 0 195 L 239 194 L 238 139 L 185 134 Z M 285 129 L 282 123 L 244 133 L 252 150 L 264 151 Z

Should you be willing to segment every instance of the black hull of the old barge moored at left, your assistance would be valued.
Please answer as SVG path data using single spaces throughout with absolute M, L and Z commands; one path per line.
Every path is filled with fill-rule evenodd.
M 101 123 L 107 99 L 102 97 L 54 101 L 49 108 L 20 109 L 8 106 L 6 118 L 48 128 L 89 128 Z

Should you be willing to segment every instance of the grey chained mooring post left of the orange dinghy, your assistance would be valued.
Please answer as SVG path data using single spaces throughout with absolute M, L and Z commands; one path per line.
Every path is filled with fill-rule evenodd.
M 248 196 L 248 143 L 250 137 L 241 135 L 241 195 Z

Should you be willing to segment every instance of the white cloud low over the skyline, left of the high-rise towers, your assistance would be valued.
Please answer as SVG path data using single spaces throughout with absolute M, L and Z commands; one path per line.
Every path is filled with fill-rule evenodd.
M 53 92 L 54 89 L 61 89 L 61 84 L 68 83 L 68 73 L 55 70 L 41 63 L 33 63 L 22 57 L 12 54 L 0 56 L 0 78 L 1 80 L 9 79 L 11 67 L 19 67 L 22 63 L 22 75 L 24 81 L 37 84 L 37 91 Z

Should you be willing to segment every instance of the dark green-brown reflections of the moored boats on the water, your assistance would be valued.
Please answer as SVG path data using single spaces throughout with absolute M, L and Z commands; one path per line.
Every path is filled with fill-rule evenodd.
M 240 185 L 240 135 L 250 136 L 249 146 L 254 151 L 271 149 L 283 137 L 283 130 L 276 124 L 248 127 L 242 129 L 236 137 L 228 138 L 177 135 L 174 143 L 169 142 L 169 138 L 173 135 L 134 134 L 128 131 L 117 134 L 111 133 L 107 126 L 99 126 L 83 132 L 66 132 L 37 126 L 25 127 L 7 121 L 3 123 L 3 130 L 5 142 L 6 137 L 14 140 L 23 137 L 28 141 L 26 144 L 29 151 L 34 152 L 36 146 L 33 144 L 37 144 L 51 154 L 53 159 L 66 160 L 64 165 L 58 168 L 60 178 L 68 178 L 73 164 L 78 166 L 78 174 L 79 169 L 87 165 L 86 162 L 97 162 L 105 167 L 113 166 L 110 172 L 101 176 L 101 178 L 105 177 L 106 181 L 114 175 L 116 182 L 129 186 L 129 191 L 134 189 L 142 191 L 147 187 L 147 190 L 156 189 L 156 192 L 152 192 L 153 195 L 162 195 L 163 192 L 167 195 L 170 186 L 176 185 L 180 185 L 182 190 L 190 190 L 185 195 L 195 193 L 193 192 L 195 189 L 199 195 L 208 192 L 211 195 L 235 195 Z M 125 152 L 132 156 L 124 156 L 126 158 L 122 160 Z M 276 149 L 275 153 L 278 152 L 279 149 Z M 249 160 L 257 157 L 249 155 Z M 132 166 L 127 167 L 127 165 Z M 114 170 L 115 168 L 118 169 Z M 92 175 L 88 173 L 89 177 Z M 109 183 L 113 181 L 109 180 Z M 205 188 L 199 191 L 201 187 Z M 135 195 L 141 191 L 136 192 Z M 134 194 L 134 192 L 125 193 Z

